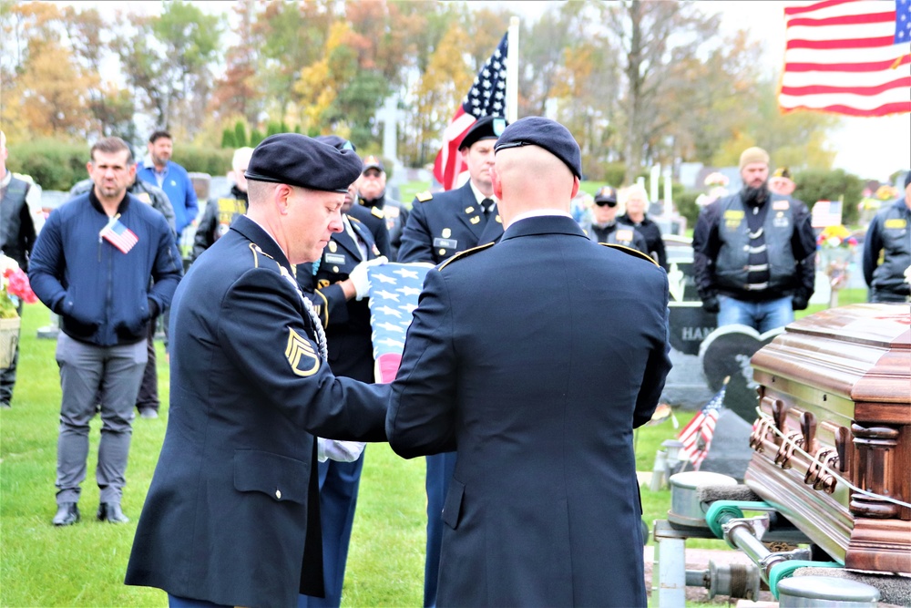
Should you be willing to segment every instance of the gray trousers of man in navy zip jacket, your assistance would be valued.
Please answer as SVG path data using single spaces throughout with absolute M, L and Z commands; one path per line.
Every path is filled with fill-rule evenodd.
M 60 437 L 57 439 L 56 501 L 77 502 L 86 479 L 88 423 L 101 399 L 101 441 L 95 471 L 101 502 L 119 502 L 126 483 L 133 406 L 146 367 L 146 341 L 96 346 L 60 332 L 56 362 L 60 367 Z

